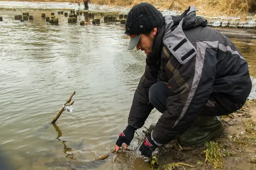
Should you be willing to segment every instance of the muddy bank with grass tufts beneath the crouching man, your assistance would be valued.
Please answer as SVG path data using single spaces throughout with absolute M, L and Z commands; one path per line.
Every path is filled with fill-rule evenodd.
M 256 101 L 248 101 L 240 111 L 222 116 L 222 121 L 225 131 L 219 138 L 196 148 L 182 148 L 173 141 L 160 148 L 151 166 L 160 170 L 255 170 Z

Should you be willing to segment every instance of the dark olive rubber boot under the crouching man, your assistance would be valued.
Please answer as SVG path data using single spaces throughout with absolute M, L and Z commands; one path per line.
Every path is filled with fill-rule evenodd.
M 183 146 L 199 146 L 220 136 L 224 125 L 219 116 L 198 116 L 190 128 L 179 136 Z

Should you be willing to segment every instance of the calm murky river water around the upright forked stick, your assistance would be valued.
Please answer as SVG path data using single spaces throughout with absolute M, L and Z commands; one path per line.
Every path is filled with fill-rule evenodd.
M 0 1 L 1 7 L 18 6 L 0 10 L 0 149 L 16 170 L 67 170 L 45 163 L 91 161 L 114 149 L 127 125 L 145 55 L 126 50 L 129 39 L 123 26 L 68 24 L 67 17 L 57 15 L 57 9 L 22 9 L 31 3 L 42 5 Z M 44 8 L 67 8 L 66 12 L 75 8 L 69 3 L 43 4 Z M 25 11 L 34 16 L 33 21 L 14 20 L 14 15 Z M 47 16 L 55 12 L 59 25 L 42 20 L 42 12 Z M 256 40 L 232 41 L 248 60 L 251 75 L 256 76 Z M 62 113 L 55 126 L 46 126 L 74 90 L 74 111 Z M 159 116 L 154 110 L 145 126 Z M 150 170 L 138 152 L 142 130 L 138 130 L 139 136 L 135 134 L 130 151 L 121 150 L 91 168 Z

